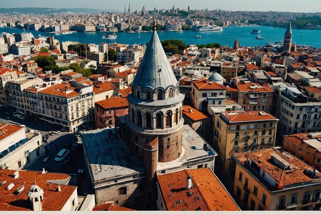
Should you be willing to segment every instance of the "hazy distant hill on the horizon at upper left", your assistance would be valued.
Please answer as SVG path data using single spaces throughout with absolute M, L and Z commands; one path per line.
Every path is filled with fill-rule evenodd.
M 101 13 L 101 12 L 116 12 L 113 9 L 91 9 L 91 8 L 37 8 L 37 7 L 25 7 L 25 8 L 0 8 L 0 13 L 8 13 L 8 14 L 26 14 L 26 13 L 33 13 L 33 14 L 48 14 L 48 13 L 66 13 L 66 12 L 73 12 L 73 13 Z

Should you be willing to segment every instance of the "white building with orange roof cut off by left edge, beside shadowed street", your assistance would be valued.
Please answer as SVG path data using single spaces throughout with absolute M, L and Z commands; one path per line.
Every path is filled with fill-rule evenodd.
M 44 153 L 41 133 L 22 126 L 0 124 L 0 168 L 19 170 Z

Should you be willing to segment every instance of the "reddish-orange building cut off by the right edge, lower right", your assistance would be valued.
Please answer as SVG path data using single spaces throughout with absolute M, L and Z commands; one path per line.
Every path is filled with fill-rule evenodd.
M 321 171 L 321 132 L 284 135 L 283 149 Z

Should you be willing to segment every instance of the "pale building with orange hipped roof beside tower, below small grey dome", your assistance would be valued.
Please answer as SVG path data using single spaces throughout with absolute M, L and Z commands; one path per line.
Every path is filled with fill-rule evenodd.
M 206 111 L 207 105 L 225 106 L 226 87 L 204 78 L 193 81 L 191 100 L 201 111 Z

